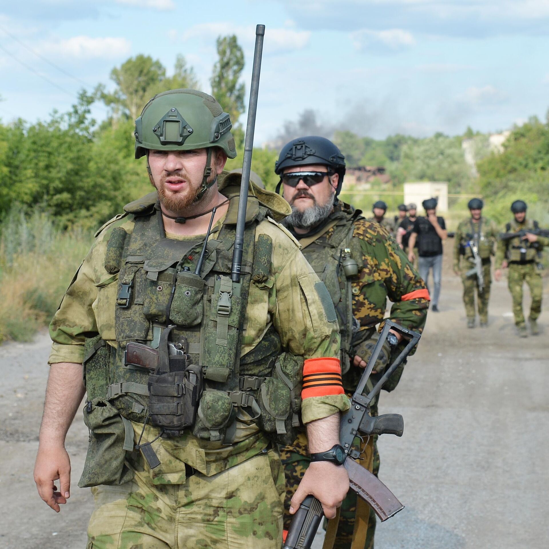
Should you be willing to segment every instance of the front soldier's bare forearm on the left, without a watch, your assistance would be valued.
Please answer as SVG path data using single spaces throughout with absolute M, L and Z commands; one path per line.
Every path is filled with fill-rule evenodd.
M 40 427 L 41 445 L 64 444 L 85 392 L 81 364 L 58 362 L 51 365 Z

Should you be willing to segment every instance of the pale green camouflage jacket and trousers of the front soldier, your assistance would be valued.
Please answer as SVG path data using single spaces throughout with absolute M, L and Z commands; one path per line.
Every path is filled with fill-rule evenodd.
M 221 253 L 221 245 L 217 245 L 215 239 L 221 238 L 219 235 L 223 231 L 232 230 L 238 209 L 239 188 L 236 185 L 223 188 L 221 182 L 220 191 L 231 201 L 225 218 L 212 229 L 209 240 L 209 247 L 210 244 L 213 247 L 209 248 L 212 262 L 217 261 L 216 254 L 219 260 Z M 266 194 L 272 194 L 261 192 L 253 186 L 250 189 L 250 194 L 261 196 L 261 193 L 264 193 L 264 197 Z M 279 549 L 282 542 L 283 470 L 277 452 L 270 449 L 269 436 L 272 438 L 272 434 L 267 435 L 264 429 L 258 427 L 256 421 L 261 419 L 253 421 L 257 402 L 262 399 L 257 386 L 251 387 L 248 391 L 248 396 L 255 399 L 255 407 L 249 399 L 247 403 L 244 399 L 238 403 L 233 402 L 234 410 L 238 411 L 237 419 L 234 421 L 236 431 L 233 432 L 232 442 L 223 444 L 222 440 L 215 440 L 215 430 L 210 430 L 211 439 L 206 440 L 193 434 L 195 427 L 193 432 L 187 429 L 180 436 L 157 439 L 160 434 L 158 427 L 151 425 L 150 422 L 145 422 L 144 427 L 142 419 L 135 419 L 144 417 L 148 396 L 139 396 L 143 395 L 143 392 L 139 393 L 137 384 L 126 382 L 126 385 L 117 385 L 113 383 L 117 382 L 117 379 L 102 379 L 112 376 L 113 369 L 109 364 L 112 364 L 113 359 L 109 356 L 118 357 L 125 344 L 120 340 L 119 329 L 122 328 L 115 322 L 115 310 L 116 315 L 119 315 L 117 307 L 122 295 L 121 283 L 117 280 L 119 274 L 111 275 L 106 270 L 110 261 L 108 242 L 115 234 L 116 228 L 124 228 L 130 242 L 133 242 L 133 238 L 137 238 L 133 232 L 137 231 L 139 223 L 147 223 L 150 218 L 153 226 L 154 216 L 158 215 L 158 206 L 155 206 L 155 203 L 156 193 L 151 193 L 126 206 L 125 214 L 116 216 L 98 231 L 91 250 L 76 273 L 50 326 L 53 347 L 49 363 L 85 362 L 88 403 L 84 412 L 85 421 L 92 432 L 86 466 L 79 485 L 92 486 L 95 498 L 95 509 L 88 527 L 88 548 Z M 260 219 L 257 216 L 265 211 L 257 199 L 249 198 L 247 220 L 250 223 Z M 320 284 L 317 276 L 301 255 L 293 237 L 284 228 L 269 217 L 255 222 L 255 248 L 260 248 L 261 243 L 270 241 L 272 254 L 270 261 L 267 259 L 257 267 L 255 262 L 253 266 L 247 263 L 244 254 L 243 273 L 255 271 L 257 275 L 259 269 L 263 274 L 254 275 L 253 282 L 249 284 L 248 306 L 242 329 L 244 335 L 238 355 L 240 376 L 244 376 L 242 379 L 248 379 L 253 385 L 253 378 L 246 377 L 245 374 L 256 372 L 256 369 L 251 367 L 253 363 L 265 362 L 257 356 L 257 350 L 272 348 L 275 352 L 280 352 L 276 351 L 276 344 L 266 344 L 265 338 L 270 338 L 268 341 L 279 340 L 283 351 L 287 351 L 293 357 L 299 357 L 300 360 L 304 358 L 305 372 L 307 365 L 310 364 L 309 359 L 312 358 L 316 358 L 313 361 L 315 372 L 322 371 L 324 364 L 333 367 L 335 371 L 339 368 L 339 360 L 330 357 L 339 354 L 338 325 L 332 318 L 335 315 L 333 309 L 330 312 L 329 304 L 325 300 L 322 301 L 322 296 L 319 296 L 322 292 L 315 285 Z M 175 240 L 171 240 L 173 236 L 166 236 L 168 238 L 162 242 L 170 249 L 170 242 L 174 243 Z M 176 238 L 185 240 L 181 237 Z M 201 245 L 195 249 L 200 250 Z M 217 250 L 216 253 L 214 250 Z M 127 275 L 128 265 L 141 265 L 139 268 L 136 267 L 136 283 L 131 297 L 135 302 L 132 307 L 142 306 L 143 310 L 152 307 L 153 297 L 161 295 L 161 290 L 166 289 L 163 288 L 166 282 L 163 282 L 165 278 L 162 271 L 165 265 L 160 266 L 158 262 L 155 264 L 154 261 L 136 256 L 126 256 L 125 261 L 126 271 L 121 271 L 120 276 L 122 272 L 126 273 L 124 276 Z M 191 252 L 188 256 L 183 256 L 182 261 L 184 266 L 189 266 L 193 270 L 197 256 Z M 206 264 L 207 262 L 208 260 Z M 138 277 L 139 272 L 146 272 L 147 277 Z M 147 286 L 148 290 L 146 293 L 140 293 L 139 284 L 146 280 L 151 281 Z M 212 288 L 209 288 L 208 292 L 211 290 Z M 212 296 L 212 300 L 214 298 L 217 299 L 216 296 Z M 175 302 L 171 311 L 177 314 L 180 312 Z M 154 318 L 148 326 L 145 325 L 143 333 L 143 343 L 148 342 L 151 346 L 154 346 L 152 340 L 155 337 L 155 320 L 159 319 Z M 217 320 L 219 329 L 219 316 Z M 229 332 L 233 322 L 234 320 L 229 317 Z M 215 326 L 215 321 L 210 320 L 204 326 Z M 183 330 L 183 333 L 187 332 Z M 197 333 L 202 332 L 195 332 Z M 191 338 L 193 333 L 188 332 L 188 335 Z M 90 351 L 90 342 L 94 341 L 99 343 Z M 207 373 L 209 366 L 202 363 L 203 354 L 200 347 L 193 348 L 191 339 L 189 345 L 193 363 L 200 364 Z M 89 356 L 92 358 L 88 358 Z M 88 360 L 94 364 L 94 369 L 88 368 Z M 264 372 L 260 375 L 267 378 L 275 376 L 272 371 L 273 365 L 274 360 L 264 363 Z M 104 376 L 97 374 L 102 371 L 100 368 L 105 368 Z M 130 374 L 131 371 L 127 373 L 128 376 Z M 101 382 L 105 385 L 110 384 L 107 394 L 90 394 L 91 387 L 97 388 Z M 214 382 L 210 382 L 210 388 L 212 383 Z M 348 409 L 348 398 L 343 394 L 341 383 L 339 388 L 337 385 L 337 382 L 333 382 L 326 393 L 320 396 L 318 392 L 317 396 L 311 397 L 307 397 L 305 391 L 302 393 L 302 422 L 308 423 Z M 296 386 L 298 397 L 300 387 L 299 382 Z M 129 394 L 136 393 L 133 395 L 133 405 L 130 411 L 120 412 L 125 410 L 121 402 L 128 398 L 126 391 Z M 207 391 L 203 395 L 206 393 Z M 236 393 L 241 394 L 242 391 Z M 202 406 L 199 408 L 198 416 L 201 410 Z M 265 413 L 262 408 L 260 417 L 263 418 Z M 131 421 L 128 421 L 127 417 L 122 419 L 124 414 L 129 416 Z M 289 424 L 292 424 L 291 419 Z M 277 420 L 277 432 L 279 427 L 280 423 Z M 227 433 L 228 430 L 227 427 Z M 205 433 L 208 435 L 208 429 Z M 157 467 L 151 467 L 143 453 L 135 449 L 140 439 L 142 445 L 144 441 L 150 443 L 150 447 L 158 456 L 160 464 Z

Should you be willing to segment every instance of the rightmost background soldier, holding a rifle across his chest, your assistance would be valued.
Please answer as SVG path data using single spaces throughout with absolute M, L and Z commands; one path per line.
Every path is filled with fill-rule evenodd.
M 537 268 L 537 256 L 544 246 L 549 245 L 549 238 L 533 234 L 529 231 L 539 229 L 537 221 L 526 219 L 526 203 L 523 200 L 515 200 L 511 204 L 511 211 L 514 218 L 505 226 L 505 232 L 526 231 L 524 236 L 512 239 L 500 238 L 496 251 L 496 280 L 501 278 L 501 269 L 509 267 L 507 283 L 509 292 L 513 298 L 513 315 L 520 337 L 528 336 L 522 310 L 522 287 L 526 282 L 530 288 L 532 303 L 530 306 L 530 332 L 532 335 L 540 333 L 537 326 L 537 317 L 541 313 L 541 298 L 543 284 L 541 272 Z

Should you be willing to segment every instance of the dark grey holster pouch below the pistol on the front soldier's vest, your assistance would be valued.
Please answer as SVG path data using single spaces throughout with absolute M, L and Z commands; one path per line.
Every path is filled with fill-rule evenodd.
M 181 436 L 192 427 L 202 392 L 202 370 L 193 364 L 184 370 L 150 374 L 149 413 L 153 425 L 167 436 Z

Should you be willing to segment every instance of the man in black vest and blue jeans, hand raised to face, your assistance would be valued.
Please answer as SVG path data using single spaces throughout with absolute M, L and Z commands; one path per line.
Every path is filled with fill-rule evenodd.
M 448 232 L 444 218 L 436 215 L 438 199 L 429 198 L 423 200 L 425 217 L 418 217 L 414 223 L 410 240 L 408 240 L 408 259 L 413 262 L 416 259 L 414 247 L 418 248 L 419 276 L 427 283 L 429 271 L 433 269 L 434 293 L 429 290 L 431 298 L 431 310 L 439 312 L 440 281 L 442 278 L 442 240 L 446 240 Z M 427 285 L 429 288 L 429 285 Z

